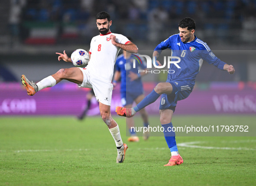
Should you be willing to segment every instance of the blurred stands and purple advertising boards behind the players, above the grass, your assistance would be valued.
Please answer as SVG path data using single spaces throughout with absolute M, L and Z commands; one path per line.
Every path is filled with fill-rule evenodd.
M 77 48 L 89 50 L 91 38 L 98 34 L 95 15 L 101 10 L 112 16 L 112 32 L 132 37 L 139 53 L 149 56 L 156 44 L 178 33 L 180 19 L 194 18 L 197 37 L 207 42 L 217 57 L 233 64 L 236 73 L 229 76 L 204 63 L 192 98 L 179 107 L 181 113 L 256 113 L 255 0 L 1 0 L 0 10 L 0 115 L 80 112 L 87 89 L 63 81 L 29 98 L 19 79 L 26 74 L 38 82 L 60 68 L 72 67 L 58 62 L 55 52 L 66 50 L 70 55 Z M 165 74 L 149 74 L 143 81 L 148 93 L 157 82 L 165 81 Z M 59 94 L 48 91 L 62 96 L 55 98 L 53 95 Z M 112 111 L 120 104 L 119 96 L 116 88 Z M 196 101 L 202 104 L 194 108 Z M 149 112 L 157 113 L 152 111 L 157 104 L 148 107 Z M 64 110 L 56 111 L 61 108 Z M 89 114 L 98 114 L 96 110 Z

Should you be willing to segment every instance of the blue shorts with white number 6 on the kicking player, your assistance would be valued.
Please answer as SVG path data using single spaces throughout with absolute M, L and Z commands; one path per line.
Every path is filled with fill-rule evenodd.
M 171 109 L 174 112 L 177 101 L 188 98 L 194 88 L 194 85 L 187 81 L 169 81 L 169 83 L 172 84 L 173 91 L 169 95 L 161 95 L 159 110 Z

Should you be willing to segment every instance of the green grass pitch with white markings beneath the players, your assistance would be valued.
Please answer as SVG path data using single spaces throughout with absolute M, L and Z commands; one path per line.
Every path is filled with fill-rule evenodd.
M 255 136 L 177 136 L 178 144 L 200 143 L 194 148 L 178 145 L 184 163 L 164 167 L 170 151 L 163 136 L 127 142 L 125 118 L 114 119 L 129 147 L 123 164 L 116 163 L 115 143 L 100 117 L 87 117 L 83 121 L 73 117 L 1 117 L 0 186 L 251 186 L 256 183 Z M 175 116 L 173 124 L 216 124 L 218 120 L 227 124 L 255 123 L 256 117 Z M 158 122 L 158 117 L 150 121 Z

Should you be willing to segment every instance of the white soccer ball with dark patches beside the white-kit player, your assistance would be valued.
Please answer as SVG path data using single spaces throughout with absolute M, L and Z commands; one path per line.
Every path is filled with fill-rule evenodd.
M 88 64 L 90 60 L 89 54 L 84 49 L 77 49 L 71 54 L 71 61 L 73 65 L 83 67 Z

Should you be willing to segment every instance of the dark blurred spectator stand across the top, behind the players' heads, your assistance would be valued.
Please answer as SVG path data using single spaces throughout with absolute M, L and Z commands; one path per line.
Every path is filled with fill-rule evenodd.
M 88 44 L 97 33 L 95 15 L 102 10 L 112 16 L 112 32 L 131 35 L 142 44 L 178 32 L 178 21 L 187 16 L 196 20 L 197 35 L 208 44 L 254 47 L 256 39 L 240 37 L 253 29 L 246 22 L 256 22 L 255 0 L 2 0 L 0 9 L 0 42 L 7 46 Z M 12 23 L 14 15 L 18 20 Z M 152 22 L 157 26 L 152 28 Z M 152 43 L 154 28 L 161 34 Z

